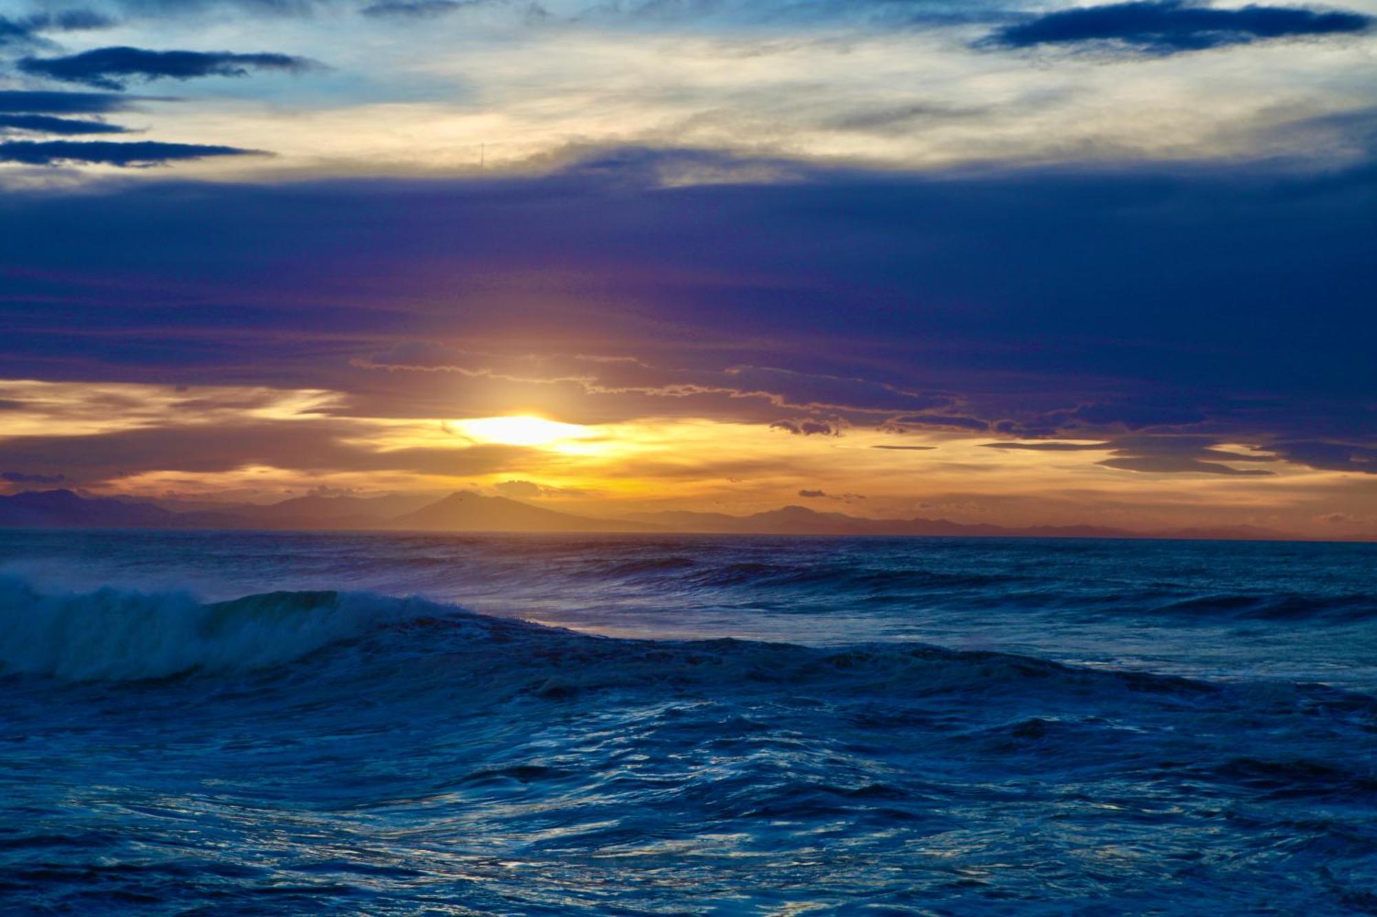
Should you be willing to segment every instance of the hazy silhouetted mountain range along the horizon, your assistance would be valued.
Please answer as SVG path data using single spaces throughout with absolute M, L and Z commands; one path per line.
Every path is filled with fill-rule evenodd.
M 1286 540 L 1253 526 L 1129 531 L 1107 526 L 1023 526 L 949 519 L 863 519 L 807 507 L 748 516 L 720 512 L 636 512 L 620 519 L 580 516 L 508 497 L 459 490 L 446 497 L 306 496 L 275 504 L 222 504 L 187 509 L 175 503 L 87 497 L 72 490 L 0 496 L 0 527 L 10 529 L 277 529 L 387 531 L 625 531 L 812 536 L 976 536 L 1042 538 L 1230 538 Z M 180 509 L 180 511 L 179 511 Z

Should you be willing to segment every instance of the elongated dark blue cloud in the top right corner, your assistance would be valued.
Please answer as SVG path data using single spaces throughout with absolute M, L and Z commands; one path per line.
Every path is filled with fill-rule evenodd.
M 1113 43 L 1151 54 L 1201 51 L 1265 39 L 1362 32 L 1373 18 L 1348 11 L 1248 6 L 1217 10 L 1184 0 L 1140 0 L 1056 10 L 996 30 L 987 44 Z

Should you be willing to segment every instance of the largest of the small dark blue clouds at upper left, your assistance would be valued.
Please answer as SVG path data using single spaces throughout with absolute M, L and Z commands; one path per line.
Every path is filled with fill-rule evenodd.
M 123 89 L 140 80 L 191 80 L 207 76 L 241 77 L 251 70 L 302 73 L 314 61 L 286 54 L 233 54 L 230 51 L 146 51 L 112 47 L 65 58 L 23 58 L 19 70 L 63 83 L 84 83 L 102 89 Z

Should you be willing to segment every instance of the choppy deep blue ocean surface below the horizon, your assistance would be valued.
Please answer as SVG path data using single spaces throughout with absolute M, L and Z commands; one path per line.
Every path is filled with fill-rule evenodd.
M 0 911 L 1377 913 L 1377 545 L 0 533 Z

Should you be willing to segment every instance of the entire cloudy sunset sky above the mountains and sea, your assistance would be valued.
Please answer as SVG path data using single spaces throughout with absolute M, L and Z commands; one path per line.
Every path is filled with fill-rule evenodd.
M 1377 0 L 0 0 L 0 492 L 1377 538 Z

